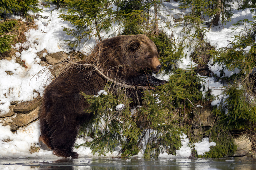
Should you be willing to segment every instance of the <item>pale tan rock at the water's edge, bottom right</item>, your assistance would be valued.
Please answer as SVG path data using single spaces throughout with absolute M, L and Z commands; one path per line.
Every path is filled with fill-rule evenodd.
M 234 138 L 237 150 L 234 156 L 245 156 L 251 149 L 251 142 L 247 134 L 242 134 Z

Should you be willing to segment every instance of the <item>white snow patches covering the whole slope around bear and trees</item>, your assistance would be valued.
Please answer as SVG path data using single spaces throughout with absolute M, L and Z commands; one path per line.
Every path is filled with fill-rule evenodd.
M 175 15 L 179 6 L 179 3 L 171 1 L 170 3 L 164 2 L 166 8 L 172 9 L 169 12 L 172 15 Z M 63 31 L 63 26 L 65 27 L 72 27 L 67 22 L 64 22 L 60 18 L 58 18 L 58 13 L 60 10 L 54 9 L 55 6 L 50 7 L 43 7 L 40 5 L 40 8 L 44 9 L 42 13 L 39 13 L 43 16 L 49 16 L 47 19 L 37 18 L 34 19 L 36 25 L 38 26 L 37 29 L 30 29 L 27 35 L 27 42 L 21 44 L 16 44 L 14 48 L 19 49 L 21 46 L 26 47 L 21 53 L 16 53 L 15 57 L 20 57 L 22 60 L 25 61 L 25 64 L 28 68 L 21 67 L 18 63 L 15 63 L 15 57 L 12 57 L 11 60 L 2 59 L 0 60 L 0 115 L 4 114 L 5 112 L 9 111 L 9 106 L 11 105 L 12 101 L 28 101 L 32 100 L 34 97 L 37 97 L 37 93 L 34 93 L 34 90 L 39 92 L 42 96 L 44 91 L 44 86 L 49 84 L 50 81 L 46 81 L 51 74 L 47 71 L 42 72 L 35 76 L 40 70 L 45 69 L 45 67 L 41 66 L 40 59 L 36 55 L 37 52 L 46 49 L 48 53 L 55 53 L 64 51 L 69 53 L 72 49 L 67 45 L 67 42 L 64 40 L 72 40 L 73 37 L 67 36 Z M 54 9 L 54 10 L 53 10 Z M 162 14 L 165 14 L 166 11 L 162 11 Z M 217 49 L 221 47 L 225 47 L 228 45 L 229 42 L 227 40 L 232 41 L 232 37 L 237 33 L 237 31 L 232 30 L 234 28 L 232 26 L 233 23 L 236 23 L 238 20 L 241 19 L 249 19 L 251 20 L 252 14 L 249 9 L 245 10 L 234 10 L 234 15 L 231 17 L 231 21 L 227 22 L 224 25 L 224 28 L 211 28 L 208 33 L 206 33 L 207 39 L 211 45 L 215 46 Z M 30 13 L 31 15 L 36 15 L 36 13 Z M 19 18 L 17 16 L 10 16 L 12 18 Z M 160 22 L 160 25 L 164 23 Z M 180 27 L 177 28 L 165 28 L 165 31 L 171 35 L 173 33 L 175 38 L 179 37 L 179 33 L 181 31 Z M 90 51 L 91 48 L 94 46 L 94 41 L 90 41 L 84 46 L 77 47 L 76 51 Z M 191 52 L 188 51 L 188 54 Z M 191 60 L 189 57 L 182 58 L 181 63 L 179 63 L 180 67 L 186 67 L 187 64 L 190 65 Z M 210 61 L 211 62 L 211 61 Z M 210 65 L 208 63 L 209 68 L 215 74 L 220 73 L 221 67 L 217 64 Z M 46 68 L 47 69 L 47 68 Z M 8 75 L 7 72 L 11 71 L 13 74 Z M 226 75 L 232 75 L 234 72 L 226 71 Z M 159 76 L 162 79 L 168 79 L 168 76 Z M 205 89 L 203 92 L 206 92 L 208 89 L 211 89 L 212 95 L 219 95 L 222 92 L 223 84 L 219 82 L 215 82 L 214 77 L 205 77 L 204 85 Z M 203 90 L 203 88 L 202 88 Z M 215 100 L 213 101 L 212 105 L 219 104 L 220 101 Z M 39 123 L 38 121 L 33 122 L 27 127 L 22 127 L 17 130 L 14 134 L 10 130 L 10 126 L 2 126 L 0 123 L 0 158 L 41 158 L 47 157 L 52 158 L 56 157 L 53 155 L 52 151 L 45 151 L 39 150 L 36 153 L 30 153 L 29 149 L 31 146 L 37 146 L 38 138 L 40 135 L 39 130 Z M 178 157 L 189 157 L 191 154 L 191 148 L 189 147 L 191 144 L 189 143 L 188 138 L 186 135 L 182 135 L 182 144 L 181 148 L 177 150 L 177 156 L 168 155 L 167 153 L 160 154 L 160 159 L 166 158 L 178 158 Z M 76 143 L 81 144 L 86 142 L 87 139 L 77 139 Z M 9 142 L 6 142 L 9 141 Z M 198 153 L 206 152 L 209 150 L 211 145 L 214 143 L 209 143 L 207 138 L 204 138 L 202 142 L 199 144 L 195 144 L 195 146 L 199 145 Z M 216 145 L 216 144 L 215 144 Z M 74 150 L 78 152 L 80 157 L 93 156 L 91 153 L 90 148 L 80 147 Z M 139 153 L 138 157 L 142 157 L 143 150 Z M 117 149 L 114 153 L 109 153 L 107 156 L 116 156 L 119 153 Z

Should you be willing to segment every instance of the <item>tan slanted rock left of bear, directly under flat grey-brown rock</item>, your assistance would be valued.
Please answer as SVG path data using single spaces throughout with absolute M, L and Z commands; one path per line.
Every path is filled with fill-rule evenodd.
M 13 123 L 17 126 L 25 126 L 38 118 L 39 106 L 32 110 L 29 114 L 19 113 L 12 119 Z

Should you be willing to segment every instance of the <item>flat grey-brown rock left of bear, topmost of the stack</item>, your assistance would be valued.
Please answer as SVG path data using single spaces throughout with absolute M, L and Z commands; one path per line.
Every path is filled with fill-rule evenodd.
M 21 102 L 13 108 L 14 112 L 28 112 L 35 109 L 41 102 L 41 98 L 38 97 L 32 101 Z

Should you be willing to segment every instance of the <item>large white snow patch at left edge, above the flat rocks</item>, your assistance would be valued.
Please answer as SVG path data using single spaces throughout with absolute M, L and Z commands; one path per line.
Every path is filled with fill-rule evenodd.
M 33 58 L 32 56 L 25 56 L 23 58 L 28 58 L 28 68 L 16 63 L 15 58 L 0 60 L 0 115 L 10 111 L 9 107 L 12 101 L 28 101 L 37 97 L 37 93 L 33 92 L 33 90 L 36 90 L 42 96 L 43 86 L 50 83 L 47 79 L 51 74 L 49 74 L 47 69 L 35 76 L 46 67 L 29 60 Z M 8 75 L 7 72 L 12 74 Z

